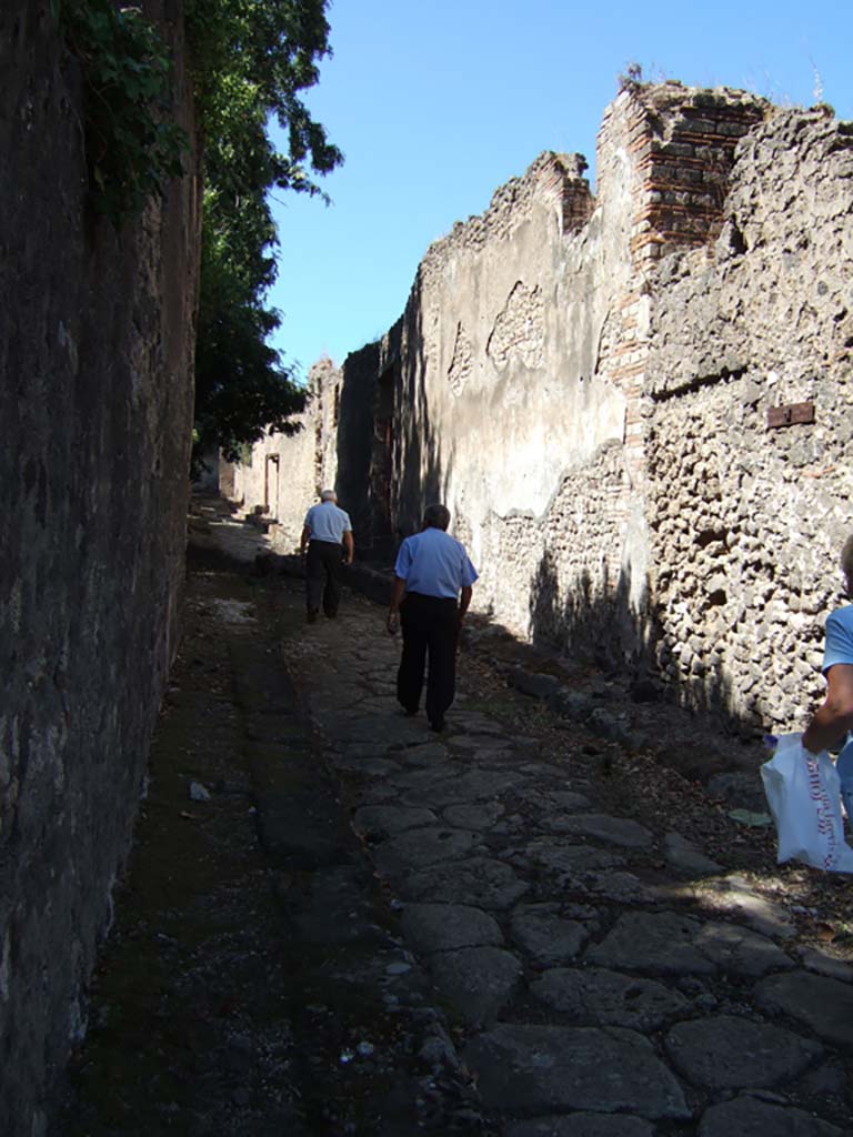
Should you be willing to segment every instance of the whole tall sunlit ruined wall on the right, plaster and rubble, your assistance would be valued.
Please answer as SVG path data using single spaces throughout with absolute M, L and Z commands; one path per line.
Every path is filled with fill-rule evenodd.
M 339 492 L 364 532 L 382 495 L 397 538 L 441 498 L 481 611 L 747 730 L 796 727 L 853 529 L 852 131 L 637 85 L 605 111 L 595 197 L 550 152 L 498 190 L 343 364 Z M 814 422 L 769 428 L 790 404 Z

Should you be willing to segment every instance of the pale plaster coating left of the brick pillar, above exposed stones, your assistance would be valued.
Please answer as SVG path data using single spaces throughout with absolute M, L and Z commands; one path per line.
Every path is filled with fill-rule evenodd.
M 599 346 L 630 274 L 627 234 L 608 224 L 629 189 L 614 186 L 566 232 L 566 181 L 588 216 L 578 164 L 543 155 L 429 250 L 404 317 L 399 465 L 415 476 L 401 528 L 438 490 L 487 574 L 494 518 L 540 517 L 570 470 L 623 438 L 626 398 L 599 367 Z M 481 597 L 495 587 L 487 575 Z

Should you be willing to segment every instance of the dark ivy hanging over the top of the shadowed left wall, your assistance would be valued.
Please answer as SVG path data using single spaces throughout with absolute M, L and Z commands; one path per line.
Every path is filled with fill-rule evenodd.
M 138 8 L 115 0 L 51 7 L 82 69 L 92 204 L 118 226 L 183 173 L 188 139 L 169 117 L 168 53 Z

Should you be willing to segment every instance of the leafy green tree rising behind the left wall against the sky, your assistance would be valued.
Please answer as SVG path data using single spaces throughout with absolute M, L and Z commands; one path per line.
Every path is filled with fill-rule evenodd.
M 265 297 L 275 280 L 273 190 L 321 193 L 312 179 L 341 161 L 300 92 L 329 53 L 326 0 L 190 0 L 205 176 L 196 348 L 198 456 L 230 460 L 265 428 L 291 432 L 305 392 L 267 343 L 279 325 Z M 278 150 L 268 123 L 287 141 Z M 323 194 L 321 194 L 323 196 Z

